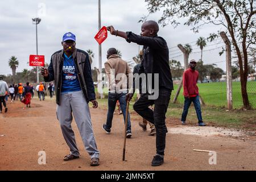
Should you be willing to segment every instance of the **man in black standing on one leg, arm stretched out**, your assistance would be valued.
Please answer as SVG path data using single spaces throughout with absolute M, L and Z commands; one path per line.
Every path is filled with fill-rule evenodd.
M 139 74 L 145 73 L 146 76 L 159 76 L 158 85 L 151 84 L 151 88 L 159 86 L 152 94 L 150 89 L 143 93 L 139 100 L 135 102 L 133 108 L 147 121 L 155 125 L 156 129 L 156 155 L 154 156 L 151 166 L 159 166 L 164 162 L 164 149 L 166 147 L 166 111 L 171 97 L 171 91 L 174 89 L 172 84 L 171 69 L 169 65 L 169 49 L 162 37 L 158 36 L 159 26 L 153 20 L 144 22 L 141 26 L 141 35 L 133 32 L 123 32 L 115 30 L 113 26 L 109 26 L 110 34 L 121 36 L 128 43 L 134 42 L 143 45 L 143 59 L 139 67 Z M 148 83 L 147 83 L 148 84 Z M 150 83 L 147 85 L 149 86 Z M 129 93 L 126 100 L 131 100 L 134 94 Z M 158 95 L 152 98 L 152 95 Z M 154 97 L 154 96 L 153 96 Z M 155 104 L 154 111 L 148 106 Z

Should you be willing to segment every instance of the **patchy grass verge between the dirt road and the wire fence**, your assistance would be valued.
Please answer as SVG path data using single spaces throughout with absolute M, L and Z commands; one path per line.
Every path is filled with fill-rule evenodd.
M 108 109 L 108 99 L 98 99 L 100 109 Z M 132 105 L 134 101 L 130 102 L 130 113 L 133 112 Z M 183 104 L 172 104 L 170 102 L 166 113 L 166 118 L 170 122 L 180 121 L 183 111 Z M 225 108 L 204 106 L 202 107 L 202 116 L 204 122 L 208 126 L 228 127 L 235 129 L 256 130 L 256 112 L 255 110 L 230 110 Z M 131 115 L 131 119 L 139 118 L 138 115 Z M 176 120 L 176 121 L 174 121 Z M 187 122 L 193 125 L 197 123 L 196 111 L 193 105 L 189 107 Z

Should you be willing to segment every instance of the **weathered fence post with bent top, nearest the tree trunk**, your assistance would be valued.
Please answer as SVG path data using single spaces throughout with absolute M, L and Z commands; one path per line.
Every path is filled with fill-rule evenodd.
M 226 100 L 228 109 L 233 109 L 232 103 L 232 67 L 231 67 L 231 44 L 225 32 L 220 32 L 222 40 L 226 44 Z

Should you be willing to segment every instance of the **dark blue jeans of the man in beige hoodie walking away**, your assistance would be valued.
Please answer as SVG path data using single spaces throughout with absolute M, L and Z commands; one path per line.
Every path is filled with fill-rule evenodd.
M 121 110 L 123 113 L 123 120 L 125 121 L 125 113 L 126 113 L 126 94 L 125 93 L 109 93 L 108 96 L 108 116 L 107 116 L 107 121 L 106 121 L 106 127 L 108 129 L 111 129 L 112 127 L 112 119 L 113 119 L 113 114 L 115 110 L 115 106 L 117 104 L 117 100 L 119 101 L 119 104 L 121 106 Z M 131 121 L 130 121 L 130 114 L 128 113 L 128 118 L 127 118 L 127 131 L 131 131 Z

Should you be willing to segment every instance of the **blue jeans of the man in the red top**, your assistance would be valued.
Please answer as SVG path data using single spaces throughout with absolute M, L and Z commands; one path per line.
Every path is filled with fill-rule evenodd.
M 187 114 L 188 114 L 188 108 L 191 105 L 191 102 L 193 102 L 193 104 L 195 106 L 198 122 L 203 122 L 201 107 L 200 107 L 200 101 L 199 101 L 199 96 L 198 95 L 196 97 L 190 97 L 190 98 L 185 97 L 184 109 L 183 109 L 183 113 L 182 113 L 182 116 L 181 116 L 181 121 L 186 121 Z

